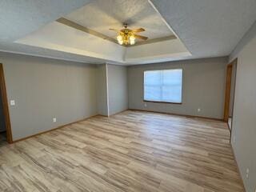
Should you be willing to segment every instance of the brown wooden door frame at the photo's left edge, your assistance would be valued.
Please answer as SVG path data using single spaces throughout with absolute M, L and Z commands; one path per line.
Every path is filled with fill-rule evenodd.
M 5 75 L 3 71 L 2 63 L 0 63 L 0 94 L 2 95 L 2 107 L 3 107 L 3 114 L 6 122 L 6 138 L 7 142 L 13 142 L 13 136 L 11 132 L 10 126 L 10 114 L 9 114 L 9 106 L 8 106 L 8 99 L 6 94 L 6 81 Z

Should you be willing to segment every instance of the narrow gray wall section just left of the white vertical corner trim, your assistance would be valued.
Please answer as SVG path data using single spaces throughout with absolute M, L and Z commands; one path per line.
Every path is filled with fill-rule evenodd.
M 98 83 L 97 83 L 97 99 L 98 114 L 108 116 L 108 98 L 107 98 L 107 79 L 106 64 L 98 65 Z

